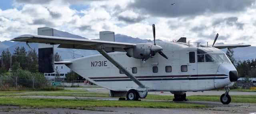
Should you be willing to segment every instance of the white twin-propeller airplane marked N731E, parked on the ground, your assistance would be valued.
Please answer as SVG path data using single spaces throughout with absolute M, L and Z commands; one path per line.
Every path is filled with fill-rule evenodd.
M 249 44 L 194 46 L 181 37 L 174 42 L 119 43 L 114 32 L 101 31 L 100 40 L 53 37 L 53 29 L 38 28 L 38 35 L 21 35 L 11 41 L 38 44 L 39 71 L 54 72 L 55 64 L 65 64 L 85 79 L 110 90 L 110 97 L 127 100 L 146 98 L 148 91 L 170 91 L 176 101 L 186 100 L 187 91 L 226 88 L 220 101 L 229 104 L 229 87 L 238 79 L 236 68 L 219 48 L 237 48 Z M 70 61 L 54 62 L 54 44 L 59 48 L 97 50 L 100 54 Z

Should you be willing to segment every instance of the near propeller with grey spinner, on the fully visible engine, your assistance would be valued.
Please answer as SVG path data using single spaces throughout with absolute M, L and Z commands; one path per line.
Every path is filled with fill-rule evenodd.
M 162 52 L 163 48 L 161 46 L 156 45 L 156 29 L 155 24 L 152 25 L 153 27 L 153 37 L 154 37 L 154 45 L 151 46 L 150 56 L 154 56 L 156 52 L 158 52 L 161 56 L 168 59 L 168 57 Z

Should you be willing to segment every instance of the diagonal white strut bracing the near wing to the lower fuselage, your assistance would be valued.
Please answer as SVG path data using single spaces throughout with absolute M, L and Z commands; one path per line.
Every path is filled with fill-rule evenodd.
M 121 70 L 124 74 L 126 74 L 134 83 L 136 83 L 140 88 L 146 88 L 144 84 L 142 84 L 136 77 L 134 77 L 126 68 L 124 68 L 121 64 L 116 62 L 108 53 L 104 50 L 104 46 L 94 47 L 100 54 L 102 54 L 106 59 L 108 59 L 112 64 L 114 64 L 119 70 Z

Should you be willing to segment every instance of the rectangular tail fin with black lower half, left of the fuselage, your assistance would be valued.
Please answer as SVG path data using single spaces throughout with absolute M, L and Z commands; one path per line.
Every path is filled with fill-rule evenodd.
M 38 28 L 38 35 L 53 36 L 53 29 L 49 27 Z M 40 72 L 54 72 L 54 45 L 38 44 L 38 64 Z

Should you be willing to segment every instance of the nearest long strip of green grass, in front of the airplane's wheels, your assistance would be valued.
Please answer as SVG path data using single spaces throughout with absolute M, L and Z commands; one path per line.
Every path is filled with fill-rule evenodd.
M 82 107 L 136 107 L 136 108 L 203 108 L 202 104 L 154 101 L 115 101 L 82 99 L 26 99 L 0 98 L 0 105 L 23 106 L 33 108 L 82 108 Z

